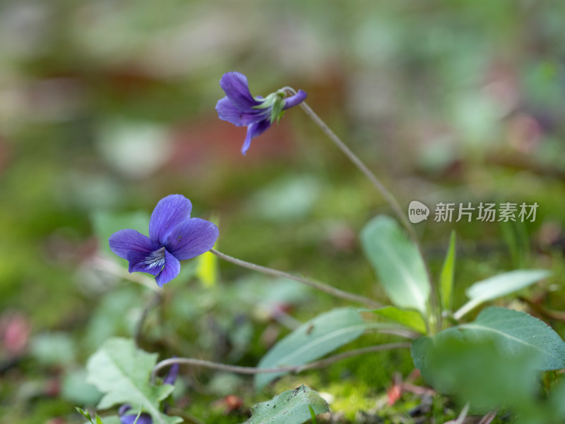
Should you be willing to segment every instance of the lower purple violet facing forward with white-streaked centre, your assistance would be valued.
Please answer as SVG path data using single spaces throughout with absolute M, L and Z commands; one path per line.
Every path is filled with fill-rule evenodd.
M 120 230 L 110 236 L 110 248 L 128 260 L 129 272 L 153 274 L 162 287 L 179 274 L 179 260 L 208 252 L 218 238 L 218 227 L 191 218 L 191 210 L 190 200 L 183 195 L 168 195 L 159 200 L 151 214 L 149 237 L 132 229 Z

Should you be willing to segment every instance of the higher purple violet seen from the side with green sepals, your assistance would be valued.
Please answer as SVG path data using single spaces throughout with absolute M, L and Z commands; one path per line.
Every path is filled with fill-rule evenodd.
M 304 102 L 306 92 L 298 90 L 295 95 L 286 97 L 285 90 L 278 90 L 267 97 L 253 97 L 245 75 L 239 72 L 228 72 L 222 75 L 220 87 L 226 96 L 218 100 L 216 111 L 218 117 L 235 126 L 246 126 L 247 135 L 242 153 L 249 150 L 251 138 L 264 133 L 271 124 L 280 119 L 283 111 Z

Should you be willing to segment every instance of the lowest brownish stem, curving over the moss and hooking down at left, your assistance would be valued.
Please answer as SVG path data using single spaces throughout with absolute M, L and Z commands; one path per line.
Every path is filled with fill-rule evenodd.
M 178 363 L 180 365 L 192 365 L 197 367 L 213 368 L 215 370 L 222 370 L 228 372 L 237 372 L 238 374 L 266 374 L 270 372 L 302 372 L 304 370 L 313 370 L 315 368 L 323 368 L 331 363 L 341 361 L 345 358 L 351 358 L 352 356 L 363 355 L 364 353 L 384 351 L 387 349 L 403 349 L 410 348 L 411 344 L 407 342 L 399 343 L 388 343 L 388 344 L 377 344 L 375 346 L 367 346 L 360 349 L 353 349 L 352 351 L 347 351 L 343 353 L 338 353 L 337 355 L 330 356 L 329 358 L 321 359 L 320 361 L 314 361 L 304 365 L 289 365 L 286 367 L 278 368 L 255 368 L 255 367 L 241 367 L 239 365 L 227 365 L 225 363 L 218 363 L 212 361 L 205 361 L 203 359 L 196 358 L 169 358 L 165 361 L 157 363 L 151 372 L 151 382 L 155 383 L 155 377 L 157 372 L 162 368 L 168 367 Z

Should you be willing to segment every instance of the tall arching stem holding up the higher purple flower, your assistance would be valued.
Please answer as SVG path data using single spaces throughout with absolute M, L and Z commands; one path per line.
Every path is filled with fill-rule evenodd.
M 296 90 L 292 87 L 283 87 L 281 90 L 285 90 L 286 92 L 290 93 L 291 95 L 296 94 Z M 412 224 L 410 224 L 410 222 L 406 218 L 406 215 L 404 214 L 402 208 L 398 204 L 398 201 L 392 195 L 392 193 L 390 191 L 388 191 L 385 186 L 383 186 L 383 183 L 381 183 L 379 178 L 376 178 L 376 175 L 373 174 L 369 168 L 367 168 L 367 165 L 365 165 L 362 162 L 362 160 L 359 159 L 359 157 L 357 155 L 355 155 L 355 153 L 352 152 L 350 150 L 350 148 L 347 147 L 347 145 L 345 143 L 343 143 L 343 140 L 341 140 L 338 137 L 338 135 L 336 135 L 332 131 L 332 129 L 330 127 L 328 127 L 328 125 L 318 116 L 318 114 L 316 114 L 316 112 L 314 112 L 312 110 L 312 108 L 309 107 L 307 102 L 302 102 L 302 103 L 299 104 L 299 106 L 302 107 L 302 110 L 304 110 L 304 112 L 306 112 L 306 114 L 310 117 L 310 119 L 312 121 L 314 121 L 314 123 L 316 123 L 317 126 L 319 126 L 321 131 L 323 131 L 323 133 L 326 134 L 328 136 L 328 138 L 330 138 L 330 140 L 332 140 L 333 143 L 336 146 L 338 146 L 338 148 L 343 152 L 343 154 L 345 156 L 347 156 L 350 159 L 350 161 L 353 162 L 353 164 L 355 166 L 357 166 L 357 169 L 359 169 L 359 171 L 361 171 L 365 176 L 367 176 L 367 178 L 369 178 L 369 181 L 371 181 L 371 183 L 373 183 L 373 186 L 375 186 L 376 189 L 379 190 L 379 193 L 381 193 L 381 195 L 383 195 L 383 198 L 385 198 L 385 200 L 388 202 L 388 204 L 391 205 L 393 211 L 395 212 L 396 216 L 400 220 L 400 223 L 404 226 L 406 231 L 408 231 L 408 234 L 410 234 L 410 238 L 412 238 L 414 243 L 416 243 L 416 247 L 420 251 L 420 256 L 422 256 L 422 260 L 424 260 L 424 254 L 423 254 L 422 246 L 420 245 L 420 241 L 418 239 L 416 231 L 414 230 L 414 226 L 412 226 Z M 434 315 L 436 317 L 435 330 L 436 330 L 436 332 L 438 332 L 438 331 L 441 330 L 441 314 L 437 312 L 438 311 L 438 300 L 437 300 L 437 295 L 436 295 L 436 289 L 435 289 L 434 284 L 432 283 L 432 274 L 429 272 L 429 268 L 428 268 L 425 260 L 424 260 L 424 265 L 425 265 L 426 270 L 427 270 L 428 279 L 429 279 L 429 286 L 430 286 L 430 291 L 431 291 L 431 296 L 430 296 L 431 302 L 430 303 L 431 303 L 431 307 L 432 307 L 432 315 Z

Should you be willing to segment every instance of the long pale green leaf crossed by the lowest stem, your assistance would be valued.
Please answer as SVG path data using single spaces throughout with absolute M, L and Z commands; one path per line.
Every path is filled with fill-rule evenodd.
M 258 368 L 276 368 L 287 365 L 304 365 L 326 353 L 357 339 L 371 323 L 364 322 L 355 308 L 338 308 L 318 315 L 287 337 L 278 341 L 261 358 Z M 255 376 L 255 387 L 265 384 L 287 372 L 270 372 Z

